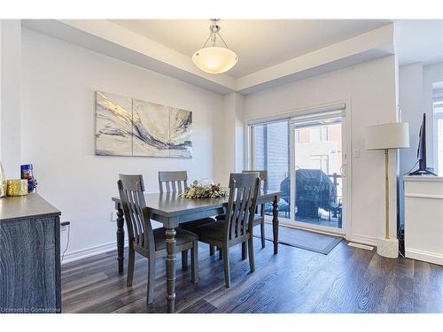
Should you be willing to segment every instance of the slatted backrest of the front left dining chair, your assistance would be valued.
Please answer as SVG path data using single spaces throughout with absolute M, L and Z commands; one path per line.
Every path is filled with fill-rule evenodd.
M 143 176 L 119 174 L 119 179 L 117 185 L 128 228 L 129 245 L 134 243 L 155 251 L 151 219 L 144 202 Z

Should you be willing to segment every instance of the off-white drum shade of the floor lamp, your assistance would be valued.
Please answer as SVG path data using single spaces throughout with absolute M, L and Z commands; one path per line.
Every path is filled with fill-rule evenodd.
M 404 149 L 409 147 L 409 124 L 384 123 L 369 126 L 365 135 L 366 150 Z

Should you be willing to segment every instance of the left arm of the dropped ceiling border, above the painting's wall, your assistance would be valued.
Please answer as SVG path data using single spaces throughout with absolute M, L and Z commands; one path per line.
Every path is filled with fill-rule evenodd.
M 217 93 L 237 89 L 237 81 L 228 74 L 204 73 L 182 53 L 106 19 L 24 19 L 22 25 Z

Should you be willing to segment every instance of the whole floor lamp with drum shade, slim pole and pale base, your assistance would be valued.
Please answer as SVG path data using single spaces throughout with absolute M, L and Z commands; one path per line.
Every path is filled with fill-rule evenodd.
M 377 253 L 396 259 L 399 255 L 399 240 L 389 235 L 389 150 L 409 147 L 408 123 L 385 123 L 366 128 L 366 150 L 385 151 L 385 236 L 377 238 Z

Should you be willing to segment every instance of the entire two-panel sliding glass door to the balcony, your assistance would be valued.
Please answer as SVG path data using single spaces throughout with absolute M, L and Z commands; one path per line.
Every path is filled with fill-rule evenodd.
M 250 168 L 267 170 L 268 188 L 282 192 L 282 221 L 334 232 L 344 228 L 345 128 L 344 107 L 250 126 Z

